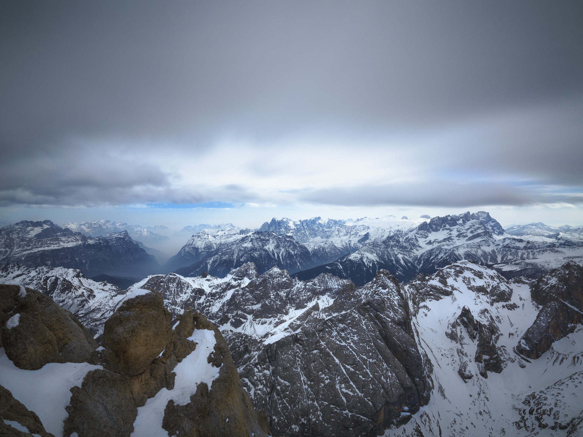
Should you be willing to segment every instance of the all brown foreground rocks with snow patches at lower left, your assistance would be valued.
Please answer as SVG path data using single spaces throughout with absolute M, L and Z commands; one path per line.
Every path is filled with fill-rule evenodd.
M 0 412 L 16 426 L 2 424 L 2 435 L 29 435 L 18 428 L 27 426 L 43 437 L 265 436 L 220 331 L 190 310 L 178 314 L 173 329 L 160 293 L 142 290 L 120 302 L 99 352 L 85 328 L 43 293 L 0 285 L 0 304 L 10 309 L 2 312 L 0 379 L 8 377 L 15 394 L 0 387 Z M 72 360 L 79 364 L 64 363 Z M 32 372 L 23 375 L 14 365 Z M 33 398 L 30 378 L 40 382 Z M 70 398 L 58 394 L 64 384 L 72 386 Z M 19 398 L 43 409 L 52 433 Z

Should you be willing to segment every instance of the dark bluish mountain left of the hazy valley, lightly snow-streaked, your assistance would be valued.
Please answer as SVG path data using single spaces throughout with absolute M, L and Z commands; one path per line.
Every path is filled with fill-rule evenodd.
M 158 264 L 127 231 L 86 237 L 50 220 L 21 221 L 0 228 L 0 265 L 19 261 L 31 267 L 66 267 L 87 276 L 100 273 L 143 277 Z

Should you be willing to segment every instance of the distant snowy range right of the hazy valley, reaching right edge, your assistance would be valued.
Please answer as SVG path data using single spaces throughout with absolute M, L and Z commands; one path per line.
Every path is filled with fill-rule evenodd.
M 203 271 L 224 276 L 252 262 L 260 274 L 277 265 L 304 280 L 330 273 L 363 285 L 380 269 L 408 282 L 459 260 L 488 265 L 509 278 L 536 278 L 567 260 L 583 260 L 581 228 L 544 226 L 513 228 L 511 232 L 520 235 L 512 235 L 483 211 L 431 219 L 274 218 L 255 232 L 240 228 L 198 232 L 166 268 L 191 277 Z M 557 229 L 560 232 L 549 233 Z

